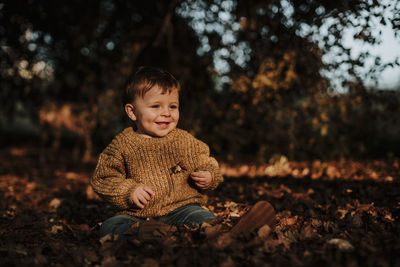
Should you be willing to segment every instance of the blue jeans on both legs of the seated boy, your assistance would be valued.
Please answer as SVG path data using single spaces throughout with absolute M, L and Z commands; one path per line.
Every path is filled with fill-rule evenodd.
M 193 226 L 203 222 L 215 219 L 216 216 L 210 211 L 202 208 L 197 203 L 191 203 L 179 207 L 167 215 L 155 217 L 154 219 L 169 225 L 188 225 Z M 129 227 L 140 221 L 145 221 L 146 218 L 135 217 L 130 215 L 117 215 L 111 217 L 103 222 L 99 230 L 99 236 L 103 237 L 107 234 L 118 234 L 119 239 L 125 239 L 124 233 Z

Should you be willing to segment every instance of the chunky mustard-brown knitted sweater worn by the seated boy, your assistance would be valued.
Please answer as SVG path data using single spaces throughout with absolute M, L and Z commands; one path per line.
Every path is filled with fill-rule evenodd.
M 160 138 L 146 138 L 131 127 L 118 134 L 100 154 L 90 183 L 97 194 L 119 209 L 118 214 L 157 217 L 189 203 L 205 204 L 205 190 L 189 178 L 195 170 L 210 171 L 207 190 L 222 181 L 209 147 L 188 132 L 175 129 Z M 155 195 L 143 209 L 131 201 L 131 193 L 146 185 Z

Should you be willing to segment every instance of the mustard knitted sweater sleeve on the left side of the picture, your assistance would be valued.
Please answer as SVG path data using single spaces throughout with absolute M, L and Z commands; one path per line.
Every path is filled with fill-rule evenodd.
M 126 178 L 124 159 L 116 140 L 100 154 L 90 184 L 100 197 L 118 209 L 132 206 L 129 197 L 139 184 Z

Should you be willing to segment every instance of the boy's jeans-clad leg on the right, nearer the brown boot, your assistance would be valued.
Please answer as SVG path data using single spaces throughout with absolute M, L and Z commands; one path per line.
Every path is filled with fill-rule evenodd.
M 157 217 L 156 220 L 169 225 L 194 226 L 215 219 L 216 216 L 197 203 L 191 203 L 179 207 L 165 216 Z

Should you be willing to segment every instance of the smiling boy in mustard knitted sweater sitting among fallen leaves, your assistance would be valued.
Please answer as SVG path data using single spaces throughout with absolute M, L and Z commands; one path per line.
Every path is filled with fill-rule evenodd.
M 209 147 L 176 128 L 179 90 L 179 82 L 159 69 L 142 67 L 129 79 L 123 104 L 137 129 L 128 127 L 113 139 L 90 181 L 119 209 L 102 224 L 100 236 L 111 233 L 124 239 L 132 224 L 148 217 L 189 226 L 215 218 L 201 205 L 206 203 L 204 193 L 215 189 L 223 177 Z

